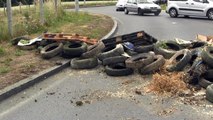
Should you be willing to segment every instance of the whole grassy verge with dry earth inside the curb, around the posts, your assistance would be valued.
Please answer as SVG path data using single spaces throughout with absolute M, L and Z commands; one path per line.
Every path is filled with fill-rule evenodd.
M 35 38 L 44 31 L 77 33 L 100 39 L 106 35 L 113 21 L 108 16 L 85 12 L 64 11 L 60 8 L 55 14 L 53 3 L 45 3 L 45 23 L 40 24 L 39 6 L 13 10 L 13 38 L 27 35 Z M 22 80 L 41 70 L 55 65 L 56 61 L 41 59 L 39 50 L 21 50 L 10 43 L 7 17 L 0 11 L 0 89 Z

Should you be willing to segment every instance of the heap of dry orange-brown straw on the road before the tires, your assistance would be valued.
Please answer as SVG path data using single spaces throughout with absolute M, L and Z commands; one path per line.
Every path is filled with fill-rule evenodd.
M 184 82 L 184 72 L 167 72 L 165 66 L 153 75 L 146 91 L 156 94 L 179 95 L 188 90 L 187 84 Z

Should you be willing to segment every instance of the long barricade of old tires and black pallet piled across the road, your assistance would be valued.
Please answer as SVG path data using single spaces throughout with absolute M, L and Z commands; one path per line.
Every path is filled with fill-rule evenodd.
M 14 44 L 17 41 L 13 40 Z M 136 32 L 105 39 L 92 46 L 81 41 L 46 40 L 36 46 L 44 59 L 61 55 L 71 59 L 72 69 L 92 69 L 102 64 L 109 76 L 127 76 L 134 71 L 141 75 L 153 74 L 163 66 L 168 72 L 184 71 L 187 74 L 185 82 L 206 88 L 206 99 L 213 102 L 213 46 L 205 42 L 157 42 L 148 34 L 143 33 L 141 37 Z

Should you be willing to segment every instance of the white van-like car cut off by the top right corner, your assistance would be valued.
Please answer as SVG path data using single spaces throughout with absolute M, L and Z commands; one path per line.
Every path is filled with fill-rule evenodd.
M 213 20 L 213 0 L 168 0 L 166 12 L 170 17 L 206 16 Z

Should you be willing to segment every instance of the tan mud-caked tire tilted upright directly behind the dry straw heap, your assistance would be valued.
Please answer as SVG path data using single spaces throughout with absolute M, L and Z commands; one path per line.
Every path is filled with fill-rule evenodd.
M 181 57 L 180 60 L 178 60 L 179 57 Z M 168 65 L 166 67 L 167 71 L 173 72 L 183 70 L 184 67 L 191 60 L 191 57 L 192 57 L 191 52 L 188 49 L 178 51 L 169 59 L 171 65 Z

